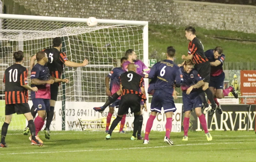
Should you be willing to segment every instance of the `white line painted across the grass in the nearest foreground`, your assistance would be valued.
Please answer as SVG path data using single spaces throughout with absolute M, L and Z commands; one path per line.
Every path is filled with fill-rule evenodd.
M 203 143 L 203 144 L 185 144 L 185 145 L 173 145 L 173 146 L 154 146 L 154 147 L 132 147 L 132 148 L 120 148 L 120 149 L 100 149 L 100 150 L 74 150 L 74 151 L 55 151 L 55 152 L 20 152 L 20 153 L 0 153 L 0 155 L 17 155 L 17 154 L 42 154 L 42 153 L 65 153 L 65 152 L 92 152 L 92 151 L 117 151 L 117 150 L 134 150 L 134 149 L 150 149 L 150 148 L 163 148 L 163 147 L 175 147 L 175 146 L 193 146 L 193 145 L 220 145 L 220 144 L 238 144 L 242 142 L 224 142 L 224 143 Z

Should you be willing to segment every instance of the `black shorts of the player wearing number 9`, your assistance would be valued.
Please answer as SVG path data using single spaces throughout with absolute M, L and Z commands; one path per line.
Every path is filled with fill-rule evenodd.
M 121 97 L 117 115 L 128 114 L 129 108 L 131 113 L 140 112 L 141 97 L 137 94 L 125 94 Z

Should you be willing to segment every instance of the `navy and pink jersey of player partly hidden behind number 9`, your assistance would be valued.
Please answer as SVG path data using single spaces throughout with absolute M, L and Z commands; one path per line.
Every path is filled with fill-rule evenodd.
M 108 74 L 108 78 L 111 79 L 110 88 L 109 88 L 109 90 L 111 92 L 111 95 L 113 95 L 115 92 L 120 90 L 120 79 L 119 79 L 119 77 L 123 73 L 124 73 L 124 70 L 121 67 L 118 67 L 118 68 L 114 68 Z

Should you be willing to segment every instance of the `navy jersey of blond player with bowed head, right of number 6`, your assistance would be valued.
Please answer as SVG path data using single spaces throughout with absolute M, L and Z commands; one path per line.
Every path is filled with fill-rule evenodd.
M 186 71 L 184 71 L 183 66 L 180 68 L 183 76 L 183 82 L 181 84 L 182 91 L 187 91 L 187 89 L 191 85 L 197 84 L 197 82 L 199 82 L 200 80 L 203 80 L 203 78 L 198 74 L 198 72 L 195 69 L 192 69 L 188 74 Z

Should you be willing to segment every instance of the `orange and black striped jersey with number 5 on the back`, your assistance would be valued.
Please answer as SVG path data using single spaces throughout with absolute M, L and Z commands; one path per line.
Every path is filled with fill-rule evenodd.
M 68 61 L 66 54 L 58 51 L 56 48 L 45 49 L 43 51 L 48 56 L 47 67 L 50 70 L 51 76 L 61 78 L 64 63 Z

